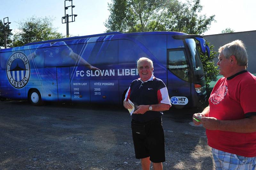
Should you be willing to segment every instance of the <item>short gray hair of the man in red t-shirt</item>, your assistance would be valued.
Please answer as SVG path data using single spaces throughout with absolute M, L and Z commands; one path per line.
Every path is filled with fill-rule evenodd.
M 229 59 L 231 55 L 234 55 L 239 66 L 245 66 L 247 68 L 248 56 L 243 41 L 235 40 L 219 48 L 219 53 Z

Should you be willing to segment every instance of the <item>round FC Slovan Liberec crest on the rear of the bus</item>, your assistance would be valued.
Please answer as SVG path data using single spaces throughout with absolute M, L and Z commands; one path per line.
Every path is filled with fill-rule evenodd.
M 24 87 L 30 76 L 27 56 L 21 52 L 12 54 L 6 64 L 6 74 L 13 87 L 18 89 Z

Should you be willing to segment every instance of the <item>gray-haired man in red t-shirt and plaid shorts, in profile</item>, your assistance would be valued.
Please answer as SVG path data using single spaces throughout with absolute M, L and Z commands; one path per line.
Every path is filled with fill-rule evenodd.
M 256 168 L 256 77 L 246 71 L 247 53 L 240 40 L 219 48 L 221 78 L 209 106 L 193 115 L 206 129 L 217 170 Z M 199 122 L 197 122 L 199 120 Z

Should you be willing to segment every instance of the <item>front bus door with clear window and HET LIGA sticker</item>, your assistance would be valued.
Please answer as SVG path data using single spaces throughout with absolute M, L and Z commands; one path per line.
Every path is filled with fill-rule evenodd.
M 184 48 L 167 50 L 167 87 L 172 105 L 190 106 L 191 75 Z

